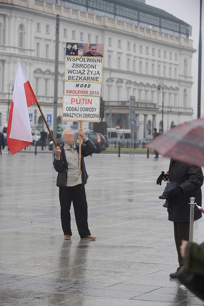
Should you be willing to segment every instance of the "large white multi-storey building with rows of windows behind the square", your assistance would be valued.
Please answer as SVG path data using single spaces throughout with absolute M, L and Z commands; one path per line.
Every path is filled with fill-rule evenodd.
M 56 2 L 58 2 L 56 4 Z M 85 6 L 86 5 L 88 6 Z M 164 83 L 164 131 L 192 119 L 191 26 L 151 6 L 130 0 L 2 0 L 0 2 L 0 131 L 19 58 L 45 117 L 52 115 L 55 23 L 60 15 L 57 122 L 61 123 L 66 41 L 104 44 L 102 97 L 105 120 L 129 128 L 129 97 L 135 96 L 137 138 L 161 127 Z M 77 5 L 77 4 L 80 4 Z M 151 23 L 150 23 L 151 22 Z M 36 105 L 29 107 L 33 114 Z M 38 128 L 44 126 L 37 111 Z M 51 128 L 53 120 L 51 123 Z M 63 124 L 63 123 L 62 123 Z M 68 126 L 73 123 L 68 123 Z M 74 123 L 76 126 L 77 123 Z M 88 123 L 84 123 L 88 127 Z

